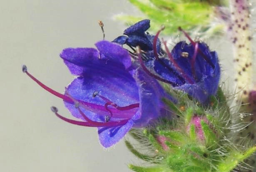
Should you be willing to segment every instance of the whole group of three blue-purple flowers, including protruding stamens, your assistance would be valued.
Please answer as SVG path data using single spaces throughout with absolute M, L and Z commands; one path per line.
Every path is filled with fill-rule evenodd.
M 125 36 L 113 42 L 97 42 L 97 49 L 64 49 L 60 57 L 77 76 L 64 94 L 42 84 L 26 66 L 22 70 L 42 88 L 62 98 L 79 120 L 66 118 L 52 107 L 57 117 L 75 125 L 97 127 L 100 143 L 110 147 L 131 128 L 144 128 L 161 118 L 173 118 L 162 100 L 175 104 L 178 98 L 170 96 L 161 82 L 201 103 L 207 103 L 218 88 L 220 68 L 216 52 L 190 37 L 190 44 L 181 41 L 171 52 L 164 42 L 164 51 L 158 39 L 163 28 L 156 35 L 145 33 L 149 22 L 136 23 L 124 31 Z M 120 44 L 127 44 L 134 52 Z

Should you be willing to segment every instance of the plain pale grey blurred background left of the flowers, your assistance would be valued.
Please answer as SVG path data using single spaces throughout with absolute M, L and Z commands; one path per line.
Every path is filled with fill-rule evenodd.
M 60 59 L 65 47 L 94 47 L 122 34 L 112 17 L 136 9 L 127 0 L 0 0 L 0 171 L 128 172 L 135 161 L 121 141 L 105 150 L 96 128 L 58 119 L 50 106 L 71 117 L 62 100 L 37 86 L 31 74 L 63 92 L 74 76 Z

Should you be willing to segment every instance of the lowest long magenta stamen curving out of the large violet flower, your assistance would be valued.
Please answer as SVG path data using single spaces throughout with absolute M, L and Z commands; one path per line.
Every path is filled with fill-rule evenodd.
M 95 122 L 95 121 L 93 121 L 93 123 L 92 122 L 85 122 L 85 121 L 77 121 L 77 120 L 72 120 L 72 119 L 65 118 L 64 116 L 60 115 L 58 113 L 58 109 L 55 106 L 52 106 L 51 110 L 52 110 L 53 113 L 55 113 L 55 115 L 58 118 L 66 121 L 67 123 L 86 126 L 86 127 L 116 127 L 116 126 L 119 126 L 119 125 L 125 125 L 128 122 L 128 119 L 117 120 L 117 121 L 109 121 L 107 123 L 101 123 L 101 122 Z

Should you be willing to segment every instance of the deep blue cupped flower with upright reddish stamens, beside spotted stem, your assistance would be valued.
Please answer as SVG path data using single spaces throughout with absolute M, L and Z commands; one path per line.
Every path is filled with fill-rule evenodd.
M 180 30 L 184 32 L 181 28 Z M 166 54 L 162 54 L 162 57 L 159 57 L 156 44 L 153 44 L 154 58 L 143 61 L 139 57 L 140 64 L 154 78 L 188 93 L 201 103 L 207 103 L 209 96 L 215 95 L 219 86 L 218 56 L 204 42 L 194 42 L 186 32 L 184 34 L 189 38 L 190 44 L 178 42 L 169 52 L 164 42 Z

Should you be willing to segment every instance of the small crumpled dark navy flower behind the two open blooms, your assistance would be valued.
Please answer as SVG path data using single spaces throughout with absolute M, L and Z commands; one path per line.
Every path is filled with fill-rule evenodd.
M 153 42 L 154 42 L 154 35 L 149 34 L 147 29 L 150 27 L 150 20 L 142 20 L 131 27 L 128 27 L 124 30 L 124 35 L 119 36 L 114 39 L 112 42 L 117 44 L 127 44 L 129 47 L 134 49 L 135 47 L 139 46 L 143 52 L 146 52 L 147 57 L 153 57 Z M 157 39 L 157 52 L 159 53 L 161 50 L 161 43 L 160 40 Z

